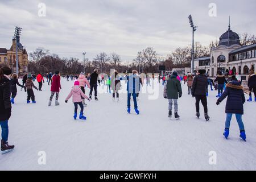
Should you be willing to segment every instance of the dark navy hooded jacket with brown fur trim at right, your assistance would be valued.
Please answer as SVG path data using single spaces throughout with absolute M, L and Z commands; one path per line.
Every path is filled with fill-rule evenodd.
M 218 102 L 222 102 L 226 97 L 226 113 L 243 114 L 243 104 L 245 103 L 245 94 L 243 93 L 243 86 L 238 81 L 232 81 L 226 84 L 226 89 Z

